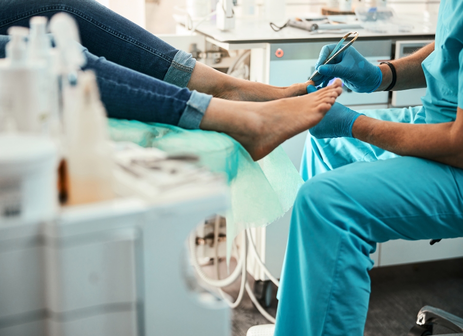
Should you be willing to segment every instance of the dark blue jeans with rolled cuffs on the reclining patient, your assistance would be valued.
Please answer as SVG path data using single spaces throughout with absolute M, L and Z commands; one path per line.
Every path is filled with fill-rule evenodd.
M 95 71 L 108 116 L 197 129 L 212 96 L 186 88 L 196 60 L 94 0 L 0 0 L 0 57 L 10 26 L 66 12 L 76 20 L 84 70 Z

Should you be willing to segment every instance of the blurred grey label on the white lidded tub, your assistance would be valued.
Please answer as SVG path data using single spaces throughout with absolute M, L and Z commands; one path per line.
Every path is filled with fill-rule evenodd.
M 21 215 L 22 194 L 19 179 L 0 178 L 0 219 L 13 219 Z

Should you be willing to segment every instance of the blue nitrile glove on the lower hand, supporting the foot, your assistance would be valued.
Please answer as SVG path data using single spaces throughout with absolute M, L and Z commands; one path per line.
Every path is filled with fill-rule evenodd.
M 307 93 L 315 91 L 317 89 L 313 85 L 307 87 Z M 361 115 L 365 114 L 355 112 L 342 104 L 334 103 L 322 121 L 309 129 L 309 132 L 317 139 L 352 138 L 352 126 L 354 121 Z

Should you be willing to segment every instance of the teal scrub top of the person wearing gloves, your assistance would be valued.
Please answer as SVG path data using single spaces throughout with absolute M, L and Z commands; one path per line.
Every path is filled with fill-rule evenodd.
M 426 124 L 455 120 L 457 106 L 463 109 L 462 0 L 441 1 L 436 47 L 422 66 L 427 89 L 421 98 L 424 109 L 418 114 Z

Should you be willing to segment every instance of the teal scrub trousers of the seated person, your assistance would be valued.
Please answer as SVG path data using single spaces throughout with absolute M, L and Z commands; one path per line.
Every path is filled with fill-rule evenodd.
M 418 111 L 362 112 L 412 123 Z M 309 134 L 301 173 L 274 335 L 363 336 L 376 243 L 462 237 L 463 169 Z

